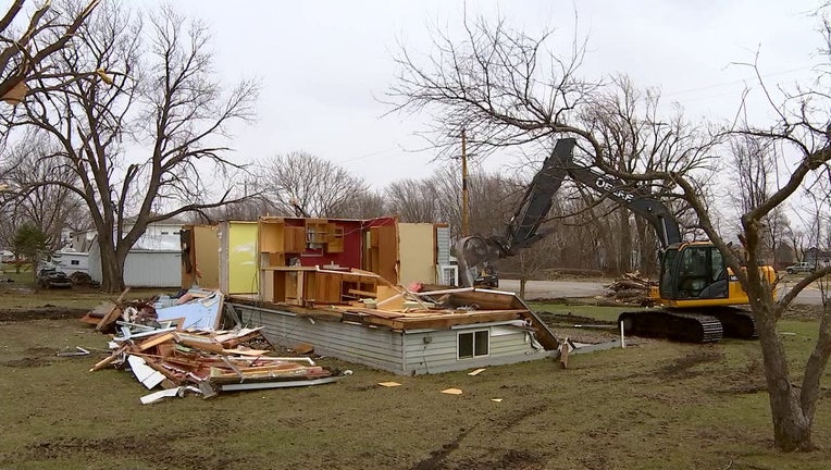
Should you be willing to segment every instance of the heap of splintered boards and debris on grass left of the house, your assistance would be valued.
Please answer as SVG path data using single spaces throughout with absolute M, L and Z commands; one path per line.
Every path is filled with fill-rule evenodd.
M 119 332 L 110 342 L 112 354 L 90 372 L 129 368 L 148 389 L 163 388 L 142 397 L 145 404 L 187 393 L 209 398 L 220 392 L 317 385 L 340 379 L 339 371 L 317 366 L 309 357 L 275 357 L 261 326 L 204 327 L 219 325 L 222 294 L 188 294 L 182 304 L 162 308 L 150 300 L 123 301 L 122 295 L 87 313 L 83 321 L 95 321 L 98 330 Z

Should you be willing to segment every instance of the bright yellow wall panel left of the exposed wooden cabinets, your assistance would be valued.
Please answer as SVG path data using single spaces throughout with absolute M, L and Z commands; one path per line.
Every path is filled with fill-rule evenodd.
M 228 222 L 228 292 L 257 294 L 257 222 Z

